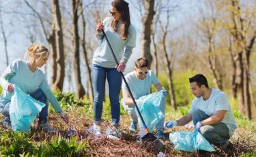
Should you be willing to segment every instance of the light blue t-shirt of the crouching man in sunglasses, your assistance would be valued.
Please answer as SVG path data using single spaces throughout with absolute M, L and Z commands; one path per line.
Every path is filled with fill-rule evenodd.
M 151 85 L 159 83 L 156 74 L 152 70 L 148 70 L 147 76 L 143 80 L 137 78 L 135 71 L 129 72 L 125 77 L 134 99 L 139 99 L 141 96 L 147 96 L 150 94 Z M 122 83 L 122 89 L 128 90 L 124 81 Z

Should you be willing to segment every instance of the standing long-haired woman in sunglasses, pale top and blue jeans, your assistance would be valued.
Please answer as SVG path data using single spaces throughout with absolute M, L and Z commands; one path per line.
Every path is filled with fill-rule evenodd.
M 96 39 L 100 40 L 92 61 L 92 80 L 94 86 L 94 128 L 100 131 L 102 122 L 102 103 L 105 93 L 106 79 L 109 83 L 109 99 L 111 102 L 113 135 L 122 137 L 119 131 L 120 104 L 119 94 L 122 85 L 122 75 L 126 63 L 132 54 L 132 48 L 136 46 L 136 29 L 130 23 L 129 3 L 124 0 L 115 0 L 109 10 L 111 17 L 103 20 L 96 26 Z M 107 38 L 113 48 L 119 66 L 102 33 L 104 29 Z

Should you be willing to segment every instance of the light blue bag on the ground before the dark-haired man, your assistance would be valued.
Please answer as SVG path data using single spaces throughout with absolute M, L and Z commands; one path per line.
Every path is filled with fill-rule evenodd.
M 173 143 L 175 149 L 187 152 L 196 152 L 197 150 L 205 150 L 215 152 L 214 147 L 198 132 L 177 131 L 170 133 L 169 139 Z

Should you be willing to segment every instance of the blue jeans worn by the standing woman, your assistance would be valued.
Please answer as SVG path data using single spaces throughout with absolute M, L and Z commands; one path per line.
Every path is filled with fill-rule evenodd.
M 115 68 L 104 68 L 95 64 L 92 65 L 92 83 L 94 86 L 94 123 L 99 125 L 102 122 L 101 117 L 106 79 L 109 83 L 109 100 L 111 102 L 112 125 L 119 126 L 119 94 L 122 85 L 122 75 Z

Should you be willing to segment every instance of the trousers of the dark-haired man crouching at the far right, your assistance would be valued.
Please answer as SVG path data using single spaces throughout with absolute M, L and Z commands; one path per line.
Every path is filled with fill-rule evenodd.
M 197 124 L 197 122 L 204 119 L 208 119 L 208 117 L 209 116 L 201 110 L 196 110 L 192 113 L 192 120 L 194 124 Z M 229 128 L 227 128 L 227 125 L 223 122 L 201 126 L 199 132 L 201 132 L 207 141 L 217 146 L 222 145 L 230 138 Z

